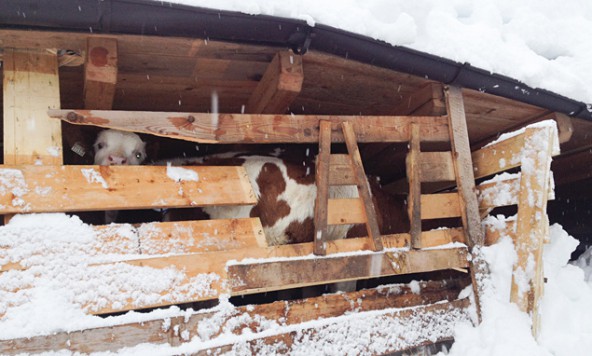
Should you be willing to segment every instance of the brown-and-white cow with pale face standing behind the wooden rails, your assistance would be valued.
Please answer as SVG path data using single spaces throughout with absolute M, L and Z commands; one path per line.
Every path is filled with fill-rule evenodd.
M 145 143 L 133 133 L 102 131 L 95 143 L 95 164 L 140 164 L 145 159 Z M 307 150 L 308 153 L 308 150 Z M 219 206 L 201 209 L 176 209 L 168 220 L 195 219 L 205 212 L 212 219 L 259 217 L 270 246 L 310 242 L 314 235 L 316 185 L 314 159 L 303 154 L 298 159 L 281 152 L 273 155 L 228 153 L 209 157 L 182 158 L 160 164 L 243 166 L 257 196 L 255 206 Z M 402 199 L 386 194 L 376 179 L 370 186 L 382 234 L 405 232 L 408 220 Z M 334 186 L 330 198 L 353 198 L 355 186 Z M 362 225 L 335 225 L 328 240 L 367 235 Z

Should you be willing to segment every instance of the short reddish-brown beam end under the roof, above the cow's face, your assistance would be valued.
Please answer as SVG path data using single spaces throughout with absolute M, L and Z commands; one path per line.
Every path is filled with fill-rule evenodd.
M 84 66 L 84 107 L 110 110 L 117 84 L 117 40 L 89 37 Z

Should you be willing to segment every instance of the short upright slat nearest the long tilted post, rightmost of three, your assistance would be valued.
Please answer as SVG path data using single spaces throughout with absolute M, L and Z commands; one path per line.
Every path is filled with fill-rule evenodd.
M 411 124 L 409 137 L 409 153 L 405 160 L 407 168 L 407 179 L 409 180 L 409 195 L 407 197 L 407 213 L 409 214 L 409 234 L 411 235 L 411 247 L 419 248 L 421 246 L 421 171 L 419 144 L 419 126 Z

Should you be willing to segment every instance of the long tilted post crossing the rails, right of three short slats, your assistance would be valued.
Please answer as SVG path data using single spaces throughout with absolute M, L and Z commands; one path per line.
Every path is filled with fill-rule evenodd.
M 469 133 L 465 117 L 462 92 L 458 87 L 447 87 L 446 109 L 450 127 L 452 160 L 460 197 L 461 219 L 464 226 L 465 240 L 471 252 L 471 279 L 475 294 L 477 317 L 481 322 L 481 296 L 483 295 L 484 276 L 488 273 L 487 265 L 481 255 L 485 233 L 479 217 L 479 203 L 475 188 L 475 175 L 469 146 Z

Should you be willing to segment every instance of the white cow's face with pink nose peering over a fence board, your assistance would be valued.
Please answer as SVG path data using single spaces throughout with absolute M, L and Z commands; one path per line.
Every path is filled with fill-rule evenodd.
M 139 165 L 146 159 L 146 143 L 133 132 L 101 131 L 93 147 L 101 166 Z

